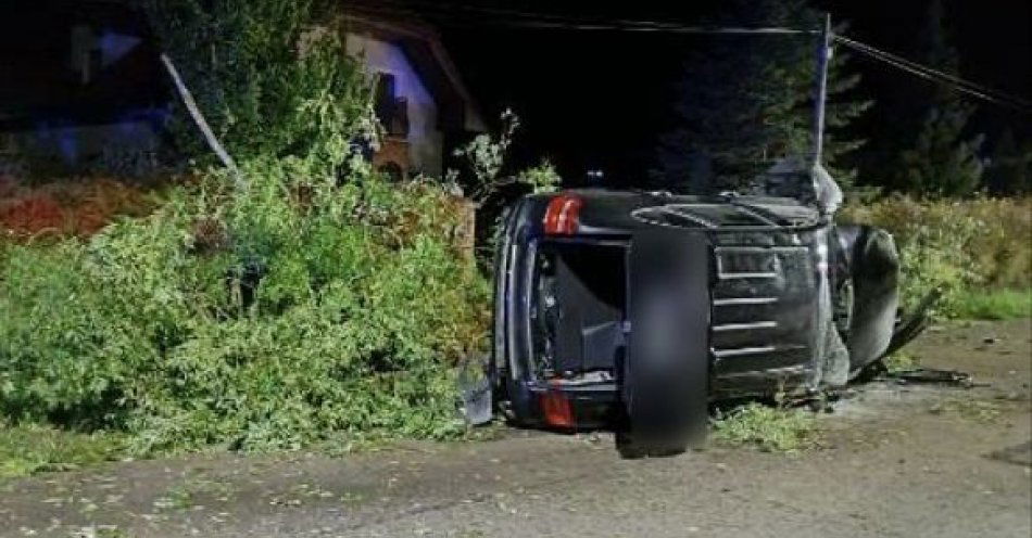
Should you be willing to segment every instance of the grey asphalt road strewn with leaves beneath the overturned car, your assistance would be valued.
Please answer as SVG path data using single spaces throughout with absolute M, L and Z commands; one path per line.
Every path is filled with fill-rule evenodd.
M 1030 323 L 915 347 L 971 389 L 859 387 L 825 447 L 621 460 L 612 436 L 505 432 L 328 458 L 111 464 L 0 486 L 0 536 L 1021 537 L 1032 534 Z

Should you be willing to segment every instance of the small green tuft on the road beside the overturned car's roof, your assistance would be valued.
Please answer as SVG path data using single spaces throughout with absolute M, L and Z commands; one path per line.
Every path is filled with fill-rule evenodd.
M 714 421 L 714 439 L 768 452 L 795 452 L 817 447 L 820 432 L 811 412 L 748 404 Z

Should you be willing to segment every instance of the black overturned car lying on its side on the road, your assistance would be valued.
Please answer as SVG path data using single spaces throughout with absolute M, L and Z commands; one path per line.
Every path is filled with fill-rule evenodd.
M 892 238 L 833 210 L 731 193 L 523 197 L 498 247 L 495 409 L 677 452 L 715 400 L 844 385 L 921 323 L 898 321 Z

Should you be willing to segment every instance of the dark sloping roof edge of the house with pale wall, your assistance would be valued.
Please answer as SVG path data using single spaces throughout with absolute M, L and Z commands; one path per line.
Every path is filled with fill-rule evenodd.
M 342 20 L 345 31 L 369 34 L 402 49 L 438 101 L 443 127 L 471 131 L 487 129 L 476 100 L 432 26 L 415 17 L 385 15 L 373 8 L 351 3 L 345 5 Z

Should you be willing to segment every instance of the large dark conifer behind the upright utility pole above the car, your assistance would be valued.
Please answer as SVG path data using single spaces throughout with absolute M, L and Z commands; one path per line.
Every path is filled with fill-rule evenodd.
M 712 24 L 819 28 L 821 18 L 805 0 L 734 0 Z M 807 154 L 818 44 L 813 36 L 702 39 L 685 63 L 678 125 L 660 142 L 663 179 L 691 191 L 741 189 L 780 157 Z M 843 157 L 864 142 L 838 132 L 871 105 L 845 98 L 860 80 L 845 73 L 847 62 L 838 54 L 829 66 L 831 134 L 825 145 L 826 165 L 845 182 L 855 171 Z

